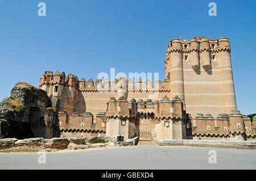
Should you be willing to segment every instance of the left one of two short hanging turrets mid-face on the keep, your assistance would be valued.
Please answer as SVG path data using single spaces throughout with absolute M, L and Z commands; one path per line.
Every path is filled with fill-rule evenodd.
M 198 48 L 198 41 L 197 39 L 192 39 L 190 42 L 190 48 L 191 48 L 191 53 L 190 53 L 190 59 L 191 59 L 191 67 L 193 70 L 197 71 L 200 67 L 199 64 L 199 48 Z

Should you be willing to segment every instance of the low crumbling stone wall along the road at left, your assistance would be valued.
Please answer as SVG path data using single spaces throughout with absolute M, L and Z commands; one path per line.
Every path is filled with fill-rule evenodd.
M 100 142 L 102 139 L 108 141 Z M 122 142 L 121 145 L 134 145 L 134 140 Z M 18 140 L 16 138 L 0 139 L 0 152 L 34 152 L 34 151 L 57 151 L 57 150 L 82 150 L 112 146 L 119 146 L 119 142 L 109 137 L 72 137 L 72 138 L 27 138 Z

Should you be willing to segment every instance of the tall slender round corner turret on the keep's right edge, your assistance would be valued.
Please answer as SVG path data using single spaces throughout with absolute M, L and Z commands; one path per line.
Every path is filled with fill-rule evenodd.
M 220 69 L 222 100 L 225 113 L 230 113 L 237 108 L 236 95 L 234 91 L 233 72 L 230 58 L 230 43 L 226 37 L 218 39 L 217 48 L 218 65 Z

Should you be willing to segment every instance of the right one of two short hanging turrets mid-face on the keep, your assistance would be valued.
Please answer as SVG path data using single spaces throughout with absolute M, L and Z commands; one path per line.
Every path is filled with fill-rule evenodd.
M 200 52 L 203 68 L 208 71 L 210 69 L 210 45 L 209 40 L 205 37 L 200 40 Z

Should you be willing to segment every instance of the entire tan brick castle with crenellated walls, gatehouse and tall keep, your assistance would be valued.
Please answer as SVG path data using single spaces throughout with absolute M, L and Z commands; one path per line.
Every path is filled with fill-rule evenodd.
M 255 139 L 256 117 L 251 122 L 237 110 L 228 38 L 169 41 L 164 68 L 166 78 L 154 86 L 123 76 L 102 84 L 46 71 L 39 88 L 57 106 L 44 120 L 59 124 L 60 137 Z

